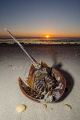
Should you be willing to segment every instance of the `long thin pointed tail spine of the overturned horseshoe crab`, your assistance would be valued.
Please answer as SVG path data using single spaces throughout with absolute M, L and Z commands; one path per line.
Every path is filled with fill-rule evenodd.
M 24 47 L 16 40 L 16 38 L 5 28 L 5 30 L 8 32 L 8 34 L 15 40 L 15 42 L 20 46 L 20 48 L 26 53 L 26 55 L 34 62 L 35 64 L 38 64 L 38 62 L 24 49 Z

